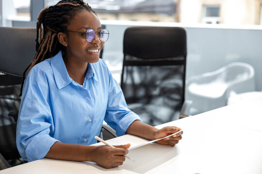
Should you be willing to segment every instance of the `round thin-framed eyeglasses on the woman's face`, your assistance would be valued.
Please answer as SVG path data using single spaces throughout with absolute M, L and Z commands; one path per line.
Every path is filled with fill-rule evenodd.
M 72 30 L 66 30 L 66 31 L 72 31 Z M 109 31 L 107 29 L 102 29 L 101 31 L 94 31 L 93 29 L 87 29 L 85 32 L 79 32 L 79 31 L 72 31 L 72 32 L 77 32 L 77 33 L 82 33 L 85 35 L 85 40 L 89 43 L 93 42 L 96 33 L 98 33 L 98 38 L 101 42 L 106 42 L 109 37 Z

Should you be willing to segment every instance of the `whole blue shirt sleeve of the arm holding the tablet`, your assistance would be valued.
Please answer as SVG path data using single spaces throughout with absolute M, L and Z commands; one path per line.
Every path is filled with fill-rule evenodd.
M 109 70 L 108 70 L 109 72 Z M 117 136 L 125 135 L 128 127 L 140 117 L 128 109 L 121 87 L 109 72 L 109 94 L 105 121 Z

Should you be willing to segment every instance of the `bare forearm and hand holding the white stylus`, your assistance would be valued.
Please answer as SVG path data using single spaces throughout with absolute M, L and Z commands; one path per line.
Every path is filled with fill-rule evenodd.
M 45 158 L 56 160 L 91 161 L 105 168 L 117 167 L 123 164 L 128 153 L 128 145 L 118 145 L 112 148 L 106 145 L 71 145 L 54 143 Z

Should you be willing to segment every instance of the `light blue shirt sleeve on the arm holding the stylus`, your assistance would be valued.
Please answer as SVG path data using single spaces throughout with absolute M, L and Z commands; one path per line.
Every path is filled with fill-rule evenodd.
M 16 146 L 24 160 L 43 159 L 58 141 L 49 135 L 54 124 L 48 95 L 45 73 L 32 69 L 23 87 L 16 127 Z

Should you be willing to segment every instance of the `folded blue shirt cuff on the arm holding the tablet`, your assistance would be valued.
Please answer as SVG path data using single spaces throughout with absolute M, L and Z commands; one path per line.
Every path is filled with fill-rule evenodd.
M 129 126 L 135 121 L 139 120 L 142 122 L 141 118 L 135 114 L 134 112 L 128 113 L 126 116 L 124 116 L 117 124 L 116 126 L 116 135 L 122 136 L 126 134 L 127 129 Z

